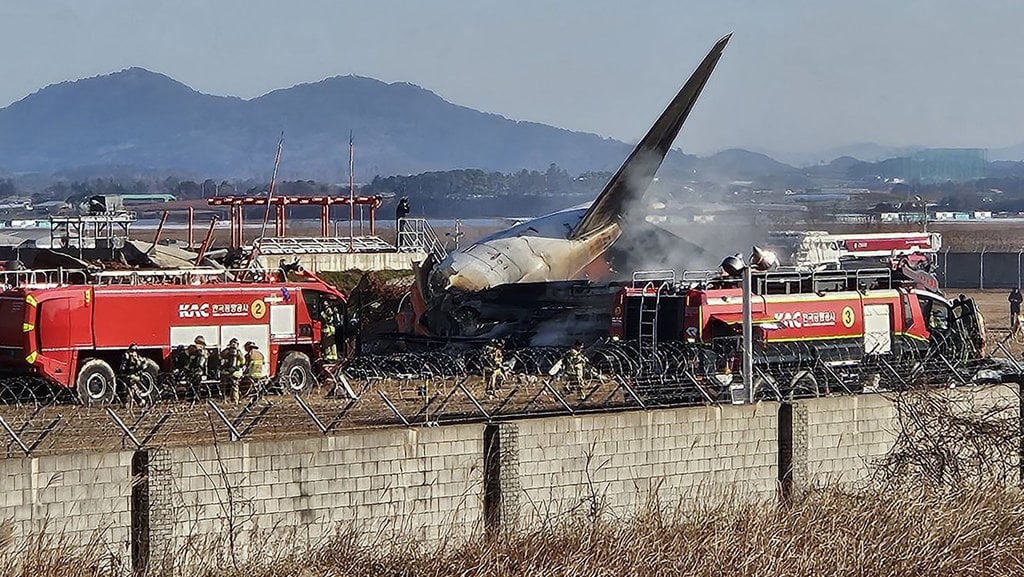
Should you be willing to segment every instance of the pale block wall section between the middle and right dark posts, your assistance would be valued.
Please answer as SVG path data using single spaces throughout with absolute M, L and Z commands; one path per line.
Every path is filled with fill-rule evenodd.
M 591 507 L 629 516 L 653 498 L 772 498 L 777 415 L 760 403 L 518 421 L 518 521 Z

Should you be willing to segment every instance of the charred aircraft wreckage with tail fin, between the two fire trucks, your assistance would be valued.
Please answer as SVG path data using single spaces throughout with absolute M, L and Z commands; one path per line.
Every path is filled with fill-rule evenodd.
M 411 298 L 414 330 L 474 341 L 513 336 L 524 345 L 593 339 L 607 334 L 607 311 L 621 288 L 607 282 L 613 244 L 702 253 L 662 229 L 627 223 L 627 216 L 654 180 L 730 36 L 705 56 L 593 203 L 500 231 L 439 262 L 428 257 Z

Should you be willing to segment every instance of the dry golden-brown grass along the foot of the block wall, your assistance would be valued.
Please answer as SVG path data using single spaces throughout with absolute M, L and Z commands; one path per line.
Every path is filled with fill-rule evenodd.
M 32 555 L 32 550 L 22 551 Z M 92 550 L 98 553 L 98 550 Z M 90 549 L 30 559 L 23 575 L 94 573 Z M 9 558 L 8 558 L 9 561 Z M 429 547 L 364 542 L 341 532 L 314 551 L 188 577 L 556 575 L 1020 575 L 1024 494 L 1016 488 L 829 489 L 779 507 L 748 503 L 647 512 L 632 521 L 579 517 L 557 525 Z M 11 573 L 5 573 L 11 574 Z

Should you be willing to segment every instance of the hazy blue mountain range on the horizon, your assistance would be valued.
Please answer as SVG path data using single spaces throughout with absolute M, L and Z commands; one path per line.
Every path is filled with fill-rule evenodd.
M 651 111 L 651 118 L 657 112 Z M 282 132 L 283 178 L 335 181 L 347 179 L 349 134 L 357 179 L 459 168 L 544 170 L 551 163 L 572 174 L 611 171 L 632 148 L 482 113 L 402 82 L 333 77 L 243 99 L 204 94 L 165 75 L 130 68 L 53 84 L 0 109 L 0 175 L 267 177 Z M 803 162 L 785 157 L 817 165 L 802 169 L 740 149 L 702 159 L 673 151 L 664 170 L 799 183 L 808 170 L 835 172 L 836 166 L 821 166 L 827 158 L 876 161 L 912 150 L 860 143 Z M 812 157 L 816 160 L 808 160 Z M 1024 145 L 990 153 L 993 160 L 1020 157 Z

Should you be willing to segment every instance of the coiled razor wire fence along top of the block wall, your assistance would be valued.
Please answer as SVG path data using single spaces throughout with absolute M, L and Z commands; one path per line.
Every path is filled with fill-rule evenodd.
M 842 344 L 794 343 L 754 359 L 754 396 L 788 401 L 830 395 L 907 390 L 1015 380 L 1022 363 L 1009 343 L 972 358 L 961 339 L 927 348 L 894 346 L 847 360 Z M 216 383 L 166 387 L 144 406 L 83 406 L 39 380 L 0 381 L 0 439 L 6 456 L 136 450 L 214 441 L 308 438 L 371 426 L 434 426 L 524 416 L 714 405 L 745 399 L 735 342 L 668 341 L 654 351 L 600 341 L 587 363 L 566 367 L 566 349 L 507 351 L 499 386 L 480 351 L 435 351 L 353 359 L 323 372 L 302 395 L 254 390 L 236 404 Z M 492 375 L 493 376 L 493 375 Z

